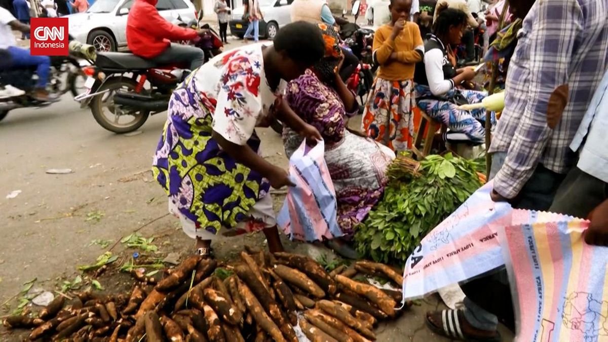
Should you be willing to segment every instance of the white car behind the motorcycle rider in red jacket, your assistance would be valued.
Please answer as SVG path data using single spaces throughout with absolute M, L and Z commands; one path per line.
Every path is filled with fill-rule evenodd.
M 126 18 L 135 0 L 97 0 L 85 13 L 68 15 L 68 32 L 75 40 L 95 46 L 97 51 L 118 51 L 126 46 Z M 159 0 L 161 16 L 173 21 L 178 15 L 188 23 L 196 19 L 189 0 Z

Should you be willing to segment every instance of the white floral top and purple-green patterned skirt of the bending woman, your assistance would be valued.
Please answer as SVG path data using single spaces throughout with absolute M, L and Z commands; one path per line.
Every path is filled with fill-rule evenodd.
M 261 44 L 234 49 L 196 69 L 173 92 L 153 173 L 190 237 L 209 239 L 274 226 L 269 182 L 221 150 L 212 131 L 260 153 L 254 128 L 275 100 Z M 227 234 L 226 234 L 227 233 Z

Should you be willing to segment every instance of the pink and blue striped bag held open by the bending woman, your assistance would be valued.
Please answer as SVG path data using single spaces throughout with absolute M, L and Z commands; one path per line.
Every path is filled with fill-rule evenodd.
M 289 187 L 277 223 L 291 240 L 314 242 L 343 236 L 337 223 L 336 190 L 323 158 L 325 144 L 306 141 L 289 158 Z

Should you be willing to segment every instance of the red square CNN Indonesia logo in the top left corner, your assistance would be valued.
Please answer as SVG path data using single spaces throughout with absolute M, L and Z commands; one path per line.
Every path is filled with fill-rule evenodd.
M 34 56 L 67 56 L 67 18 L 32 18 L 30 54 Z

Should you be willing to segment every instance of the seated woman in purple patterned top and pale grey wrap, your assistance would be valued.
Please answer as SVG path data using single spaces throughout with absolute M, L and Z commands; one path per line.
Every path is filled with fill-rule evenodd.
M 296 114 L 316 127 L 325 141 L 325 161 L 336 189 L 338 223 L 347 236 L 378 203 L 386 184 L 384 175 L 395 158 L 390 148 L 347 129 L 348 117 L 358 113 L 359 105 L 339 75 L 343 57 L 337 46 L 337 32 L 324 29 L 325 58 L 289 83 L 286 100 Z M 283 144 L 288 156 L 302 144 L 302 137 L 283 127 Z M 343 243 L 332 247 L 342 256 L 356 257 Z

